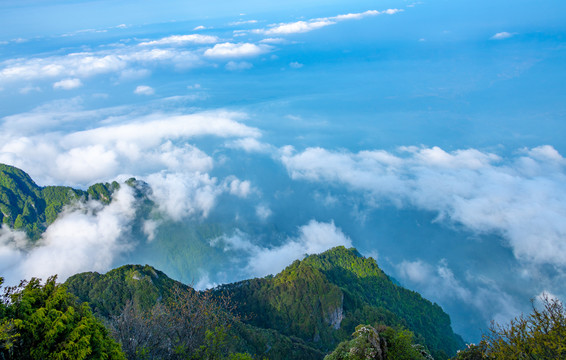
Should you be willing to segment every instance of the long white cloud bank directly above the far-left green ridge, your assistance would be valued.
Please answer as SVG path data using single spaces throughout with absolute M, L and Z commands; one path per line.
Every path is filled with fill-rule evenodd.
M 4 118 L 0 162 L 24 169 L 45 185 L 88 186 L 120 174 L 205 173 L 212 169 L 213 160 L 187 143 L 190 139 L 261 136 L 258 129 L 239 122 L 245 117 L 241 113 L 179 115 L 151 109 L 143 114 L 143 109 L 128 107 L 73 111 L 76 106 L 68 102 L 56 109 L 42 107 Z M 58 131 L 61 125 L 67 134 Z M 89 129 L 80 130 L 84 127 Z

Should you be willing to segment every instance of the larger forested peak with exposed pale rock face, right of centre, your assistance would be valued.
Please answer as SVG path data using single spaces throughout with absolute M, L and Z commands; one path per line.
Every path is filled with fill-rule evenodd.
M 224 285 L 248 323 L 296 335 L 324 352 L 350 338 L 359 324 L 404 327 L 435 358 L 464 346 L 449 316 L 418 293 L 395 285 L 371 258 L 336 247 L 295 261 L 274 277 Z

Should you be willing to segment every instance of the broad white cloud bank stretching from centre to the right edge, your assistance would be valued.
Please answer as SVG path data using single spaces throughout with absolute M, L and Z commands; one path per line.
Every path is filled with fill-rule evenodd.
M 294 179 L 345 185 L 372 206 L 433 211 L 438 221 L 503 236 L 520 260 L 566 266 L 566 160 L 550 146 L 523 153 L 509 160 L 475 149 L 288 148 L 281 160 Z

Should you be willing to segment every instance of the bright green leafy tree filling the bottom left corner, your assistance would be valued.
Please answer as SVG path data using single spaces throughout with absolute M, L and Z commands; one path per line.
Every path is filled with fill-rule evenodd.
M 55 276 L 6 288 L 0 303 L 2 359 L 125 359 L 88 305 Z

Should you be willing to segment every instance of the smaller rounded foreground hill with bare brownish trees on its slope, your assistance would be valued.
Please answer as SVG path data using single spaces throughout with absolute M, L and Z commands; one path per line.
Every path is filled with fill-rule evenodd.
M 322 359 L 304 341 L 243 323 L 228 298 L 197 292 L 151 266 L 82 273 L 66 285 L 88 301 L 128 359 Z

